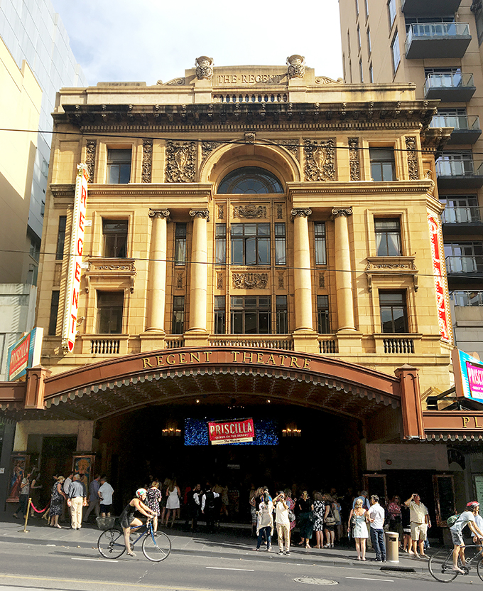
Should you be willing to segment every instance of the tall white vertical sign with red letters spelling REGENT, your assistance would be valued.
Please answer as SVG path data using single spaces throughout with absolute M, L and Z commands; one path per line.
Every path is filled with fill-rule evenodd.
M 74 213 L 70 236 L 69 265 L 62 326 L 62 348 L 72 352 L 77 334 L 77 311 L 79 309 L 80 271 L 82 250 L 84 250 L 85 210 L 87 207 L 87 179 L 89 173 L 85 164 L 77 166 L 75 179 Z

